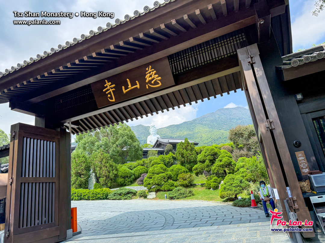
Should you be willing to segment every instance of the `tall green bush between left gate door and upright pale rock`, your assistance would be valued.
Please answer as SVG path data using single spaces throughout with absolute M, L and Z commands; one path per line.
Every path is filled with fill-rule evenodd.
M 71 186 L 74 189 L 88 188 L 90 160 L 88 155 L 76 149 L 71 154 Z

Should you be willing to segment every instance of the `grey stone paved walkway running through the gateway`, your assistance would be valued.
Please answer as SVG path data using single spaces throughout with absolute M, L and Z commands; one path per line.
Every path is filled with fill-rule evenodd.
M 261 210 L 200 201 L 73 201 L 82 234 L 66 242 L 293 242 Z

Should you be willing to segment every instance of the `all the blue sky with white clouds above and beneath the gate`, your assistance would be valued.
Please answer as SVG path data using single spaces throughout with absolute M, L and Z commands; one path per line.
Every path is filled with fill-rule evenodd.
M 181 1 L 181 0 L 177 0 Z M 72 0 L 67 4 L 66 1 L 57 0 L 53 2 L 44 0 L 17 0 L 2 1 L 0 8 L 0 71 L 6 68 L 16 66 L 23 60 L 35 57 L 38 53 L 49 51 L 51 47 L 64 44 L 66 41 L 72 41 L 74 37 L 80 38 L 81 34 L 88 34 L 89 30 L 97 29 L 98 26 L 105 26 L 107 22 L 113 23 L 115 18 L 123 19 L 125 14 L 133 15 L 134 10 L 142 11 L 145 5 L 153 6 L 154 0 Z M 162 0 L 160 0 L 162 2 Z M 325 11 L 318 17 L 311 15 L 314 9 L 315 0 L 290 0 L 292 41 L 293 50 L 300 48 L 309 48 L 312 44 L 319 44 L 325 41 Z M 13 11 L 31 11 L 31 12 L 114 12 L 114 18 L 59 18 L 60 25 L 13 25 L 13 20 L 28 19 L 15 18 Z M 30 18 L 35 19 L 35 18 Z M 37 18 L 42 19 L 42 18 Z M 46 18 L 45 18 L 46 19 Z M 53 18 L 47 18 L 53 19 Z M 155 123 L 156 127 L 164 127 L 170 124 L 178 124 L 184 121 L 192 120 L 209 112 L 224 107 L 243 106 L 247 107 L 245 95 L 243 92 L 230 92 L 223 97 L 216 99 L 205 99 L 204 102 L 198 102 L 192 106 L 187 105 L 180 109 L 175 108 L 170 112 L 160 113 L 149 116 L 148 118 L 128 122 L 129 125 Z M 11 111 L 8 103 L 0 104 L 0 129 L 9 133 L 10 125 L 24 122 L 34 124 L 34 117 Z

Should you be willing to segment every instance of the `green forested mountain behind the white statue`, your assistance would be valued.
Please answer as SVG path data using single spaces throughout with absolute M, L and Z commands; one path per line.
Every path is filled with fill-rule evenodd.
M 243 107 L 222 108 L 191 121 L 159 128 L 157 134 L 166 138 L 188 138 L 200 145 L 213 145 L 228 142 L 229 129 L 237 125 L 252 124 L 249 110 Z M 140 144 L 147 143 L 149 126 L 131 126 Z

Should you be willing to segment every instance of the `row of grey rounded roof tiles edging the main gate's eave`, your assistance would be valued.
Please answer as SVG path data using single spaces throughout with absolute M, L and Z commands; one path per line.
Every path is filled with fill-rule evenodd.
M 124 24 L 125 22 L 127 22 L 129 20 L 132 20 L 132 19 L 134 19 L 136 17 L 142 16 L 145 13 L 151 12 L 151 11 L 155 10 L 156 8 L 161 7 L 161 6 L 164 6 L 167 3 L 173 2 L 173 1 L 175 1 L 175 0 L 164 0 L 163 3 L 160 3 L 158 1 L 155 1 L 153 3 L 153 7 L 152 8 L 150 8 L 149 6 L 144 6 L 143 12 L 140 12 L 138 10 L 135 10 L 133 12 L 133 15 L 134 16 L 132 16 L 132 17 L 130 15 L 126 14 L 124 16 L 124 20 L 121 20 L 121 19 L 117 18 L 117 19 L 115 19 L 115 23 L 113 23 L 113 24 L 111 24 L 110 22 L 108 22 L 105 25 L 105 27 L 98 26 L 97 30 L 90 30 L 89 31 L 89 34 L 82 34 L 80 36 L 80 38 L 75 37 L 75 38 L 72 39 L 72 41 L 66 41 L 65 44 L 59 44 L 58 45 L 58 48 L 52 47 L 50 49 L 50 51 L 44 51 L 43 54 L 37 54 L 36 57 L 31 57 L 28 61 L 25 60 L 25 61 L 23 61 L 23 63 L 18 63 L 16 66 L 12 66 L 10 69 L 6 69 L 4 72 L 0 72 L 0 78 L 2 76 L 5 76 L 5 75 L 7 75 L 9 73 L 12 73 L 12 72 L 20 69 L 22 67 L 25 67 L 25 66 L 27 66 L 29 64 L 32 64 L 33 62 L 37 62 L 37 61 L 39 61 L 39 60 L 41 60 L 41 59 L 43 59 L 43 58 L 45 58 L 47 56 L 50 56 L 50 55 L 52 55 L 55 52 L 59 52 L 61 50 L 67 49 L 68 47 L 71 47 L 71 46 L 73 46 L 73 45 L 75 45 L 77 43 L 80 43 L 80 42 L 82 42 L 82 41 L 84 41 L 86 39 L 89 39 L 89 38 L 91 38 L 94 35 L 98 35 L 101 32 L 105 32 L 105 31 L 107 31 L 107 30 L 109 30 L 111 28 L 114 28 L 114 27 L 116 27 L 116 26 L 118 26 L 120 24 Z

